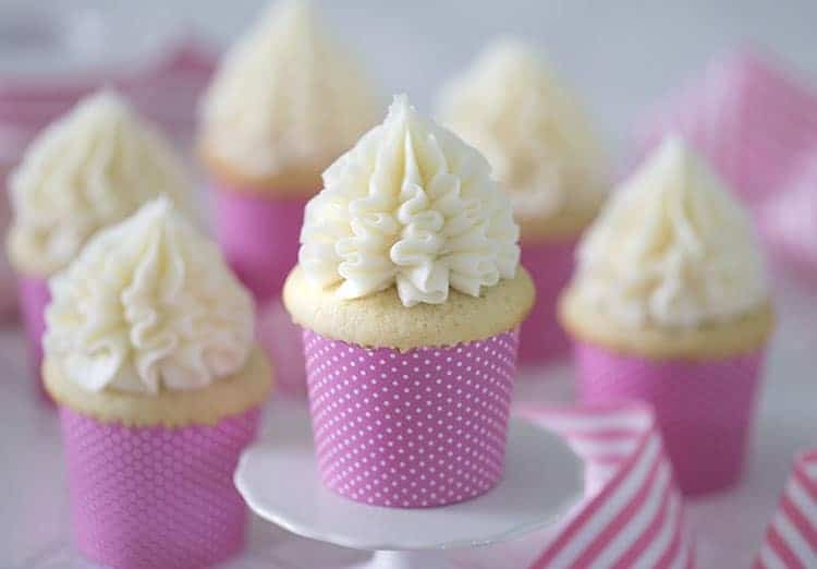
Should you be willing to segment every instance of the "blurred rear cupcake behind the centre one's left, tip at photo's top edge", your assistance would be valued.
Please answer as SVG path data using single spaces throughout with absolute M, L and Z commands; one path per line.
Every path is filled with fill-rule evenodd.
M 259 304 L 297 262 L 320 172 L 375 124 L 377 107 L 305 0 L 275 5 L 221 62 L 202 102 L 199 155 L 222 251 Z

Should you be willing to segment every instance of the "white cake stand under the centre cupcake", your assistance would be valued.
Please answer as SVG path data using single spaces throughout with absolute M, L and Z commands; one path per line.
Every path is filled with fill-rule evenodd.
M 443 549 L 497 543 L 559 521 L 584 491 L 583 463 L 559 437 L 512 420 L 504 476 L 487 494 L 441 508 L 366 506 L 322 486 L 308 416 L 288 419 L 244 452 L 235 485 L 255 513 L 295 534 L 375 552 L 361 569 L 449 567 Z

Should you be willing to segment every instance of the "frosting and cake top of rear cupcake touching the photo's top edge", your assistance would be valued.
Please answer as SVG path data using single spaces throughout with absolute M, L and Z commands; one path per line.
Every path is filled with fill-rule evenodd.
M 223 59 L 202 104 L 202 153 L 224 182 L 315 193 L 377 109 L 368 80 L 310 3 L 283 0 Z

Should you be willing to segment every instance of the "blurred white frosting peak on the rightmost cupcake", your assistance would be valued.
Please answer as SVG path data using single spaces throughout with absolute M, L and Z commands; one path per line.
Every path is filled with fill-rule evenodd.
M 769 295 L 747 214 L 676 138 L 613 194 L 577 261 L 578 299 L 624 325 L 729 320 Z

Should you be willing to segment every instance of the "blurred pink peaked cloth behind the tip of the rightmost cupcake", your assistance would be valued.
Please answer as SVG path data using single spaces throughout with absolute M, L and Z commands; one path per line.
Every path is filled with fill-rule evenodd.
M 776 195 L 817 143 L 817 94 L 752 52 L 712 62 L 636 130 L 644 156 L 670 133 L 697 147 L 751 205 Z

